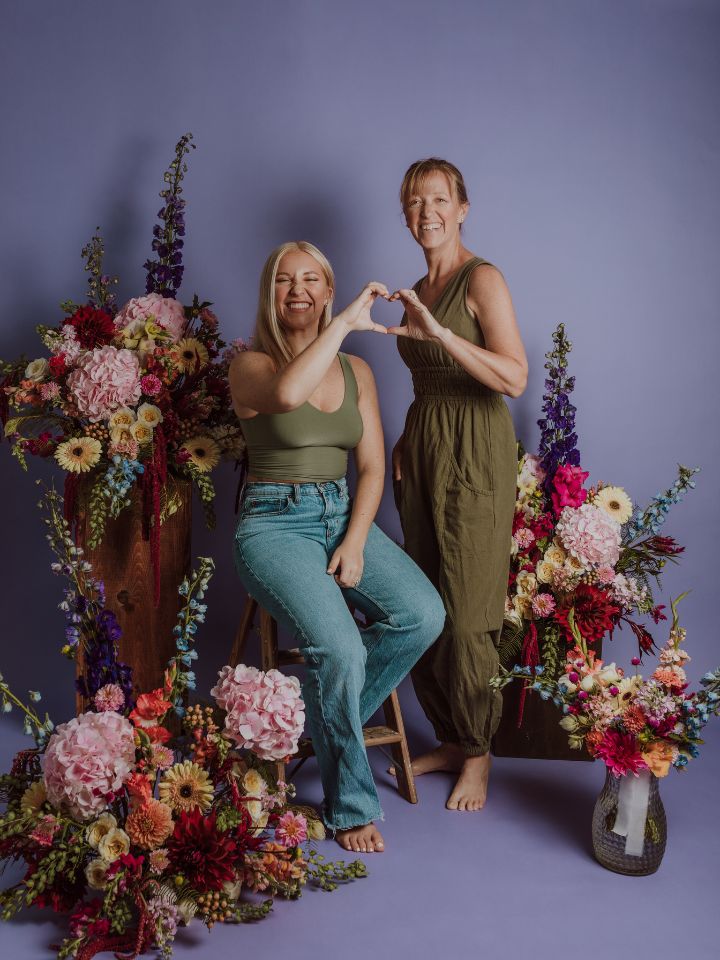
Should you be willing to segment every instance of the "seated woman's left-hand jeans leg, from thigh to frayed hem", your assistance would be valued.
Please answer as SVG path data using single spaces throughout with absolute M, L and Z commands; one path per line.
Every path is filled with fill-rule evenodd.
M 235 542 L 248 593 L 295 633 L 307 663 L 303 697 L 326 825 L 347 830 L 381 819 L 360 714 L 366 650 L 342 591 L 325 572 L 325 547 L 287 527 Z

